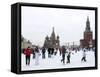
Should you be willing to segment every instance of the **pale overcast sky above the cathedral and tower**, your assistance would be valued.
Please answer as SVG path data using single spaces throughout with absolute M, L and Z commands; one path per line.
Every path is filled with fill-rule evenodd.
M 52 27 L 60 37 L 60 44 L 76 43 L 83 38 L 87 16 L 95 37 L 95 11 L 22 6 L 22 35 L 33 44 L 42 46 Z

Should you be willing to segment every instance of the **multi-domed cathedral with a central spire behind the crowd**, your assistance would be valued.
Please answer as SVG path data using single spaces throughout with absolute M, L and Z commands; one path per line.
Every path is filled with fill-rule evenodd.
M 53 27 L 51 36 L 48 37 L 48 35 L 47 35 L 45 37 L 45 41 L 44 41 L 43 47 L 45 47 L 45 48 L 49 48 L 49 47 L 51 47 L 51 48 L 58 48 L 59 46 L 60 46 L 59 36 L 55 35 L 54 27 Z

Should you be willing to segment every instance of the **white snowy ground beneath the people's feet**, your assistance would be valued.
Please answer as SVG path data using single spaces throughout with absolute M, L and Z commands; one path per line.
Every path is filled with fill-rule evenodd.
M 25 64 L 25 55 L 21 55 L 21 70 L 43 70 L 43 69 L 57 69 L 57 68 L 77 68 L 77 67 L 93 67 L 95 66 L 95 56 L 93 51 L 86 52 L 87 62 L 81 62 L 83 51 L 78 51 L 75 53 L 72 51 L 70 64 L 61 63 L 62 56 L 59 55 L 59 52 L 56 56 L 52 56 L 48 58 L 48 53 L 46 51 L 46 58 L 42 59 L 42 55 L 39 57 L 39 64 L 35 65 L 35 59 L 33 59 L 33 55 L 31 55 L 30 66 L 26 66 Z M 65 58 L 65 62 L 66 62 Z

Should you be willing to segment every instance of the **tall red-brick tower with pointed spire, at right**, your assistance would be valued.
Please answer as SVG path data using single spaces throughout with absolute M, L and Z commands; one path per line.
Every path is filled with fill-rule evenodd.
M 80 40 L 80 46 L 82 48 L 95 47 L 95 40 L 93 40 L 93 32 L 91 31 L 90 28 L 89 17 L 87 17 L 86 28 L 84 31 L 84 38 Z

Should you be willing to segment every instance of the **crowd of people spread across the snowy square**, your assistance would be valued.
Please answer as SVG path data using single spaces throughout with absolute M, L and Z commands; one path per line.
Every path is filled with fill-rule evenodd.
M 56 56 L 58 51 L 59 51 L 59 56 L 61 56 L 61 62 L 63 64 L 68 64 L 70 63 L 70 59 L 71 59 L 71 54 L 72 50 L 75 50 L 75 53 L 77 53 L 78 51 L 80 51 L 80 48 L 76 48 L 76 49 L 71 49 L 71 48 L 66 48 L 65 46 L 62 46 L 60 48 L 39 48 L 38 46 L 36 46 L 34 49 L 27 47 L 23 50 L 23 53 L 25 55 L 25 59 L 26 59 L 26 65 L 30 65 L 30 57 L 31 54 L 33 54 L 33 59 L 35 60 L 35 64 L 38 65 L 39 64 L 39 57 L 40 55 L 42 56 L 42 59 L 46 59 L 46 52 L 48 52 L 48 58 L 51 58 L 52 55 Z M 94 49 L 93 49 L 94 50 Z M 81 58 L 81 61 L 86 62 L 86 48 L 82 49 L 83 51 L 83 56 Z M 65 57 L 67 58 L 67 60 L 65 61 Z

